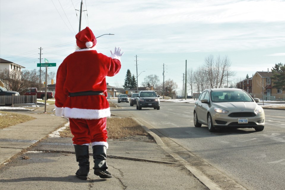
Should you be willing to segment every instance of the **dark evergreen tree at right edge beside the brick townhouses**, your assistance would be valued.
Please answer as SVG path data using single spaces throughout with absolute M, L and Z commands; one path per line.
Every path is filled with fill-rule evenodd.
M 271 69 L 273 76 L 271 79 L 273 82 L 273 87 L 285 90 L 285 63 L 278 63 L 275 64 L 274 67 Z

